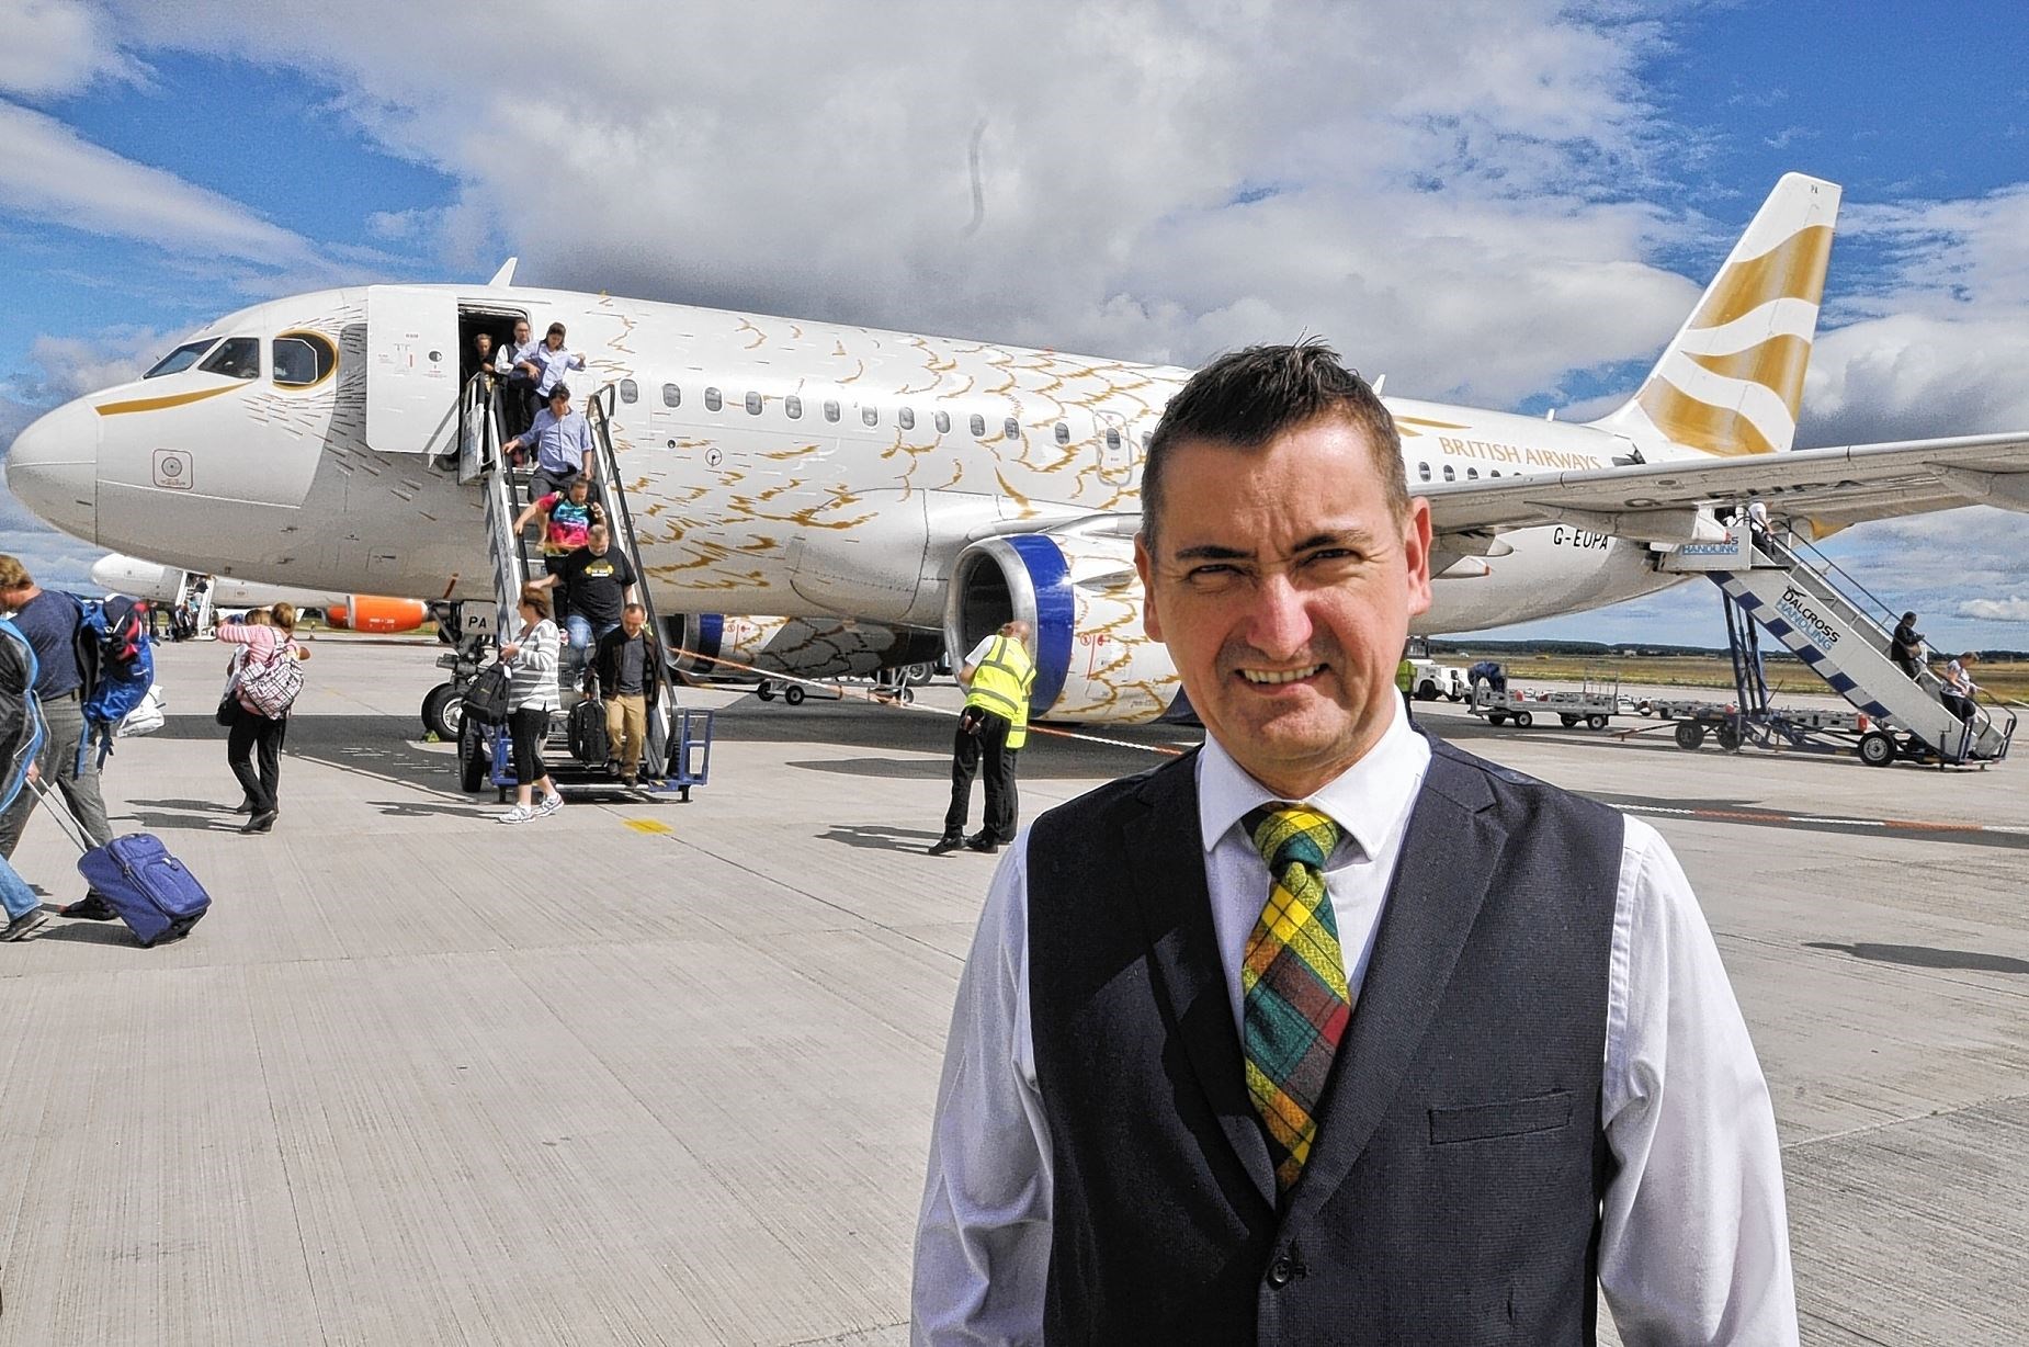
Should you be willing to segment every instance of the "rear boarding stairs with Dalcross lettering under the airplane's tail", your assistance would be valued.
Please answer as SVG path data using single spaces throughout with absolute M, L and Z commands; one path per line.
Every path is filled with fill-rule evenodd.
M 1779 540 L 1771 529 L 1735 523 L 1725 544 L 1684 548 L 1664 566 L 1702 572 L 1743 619 L 1765 627 L 1867 714 L 1879 732 L 1861 742 L 1861 761 L 1881 767 L 1897 755 L 1942 763 L 2007 757 L 2015 712 L 1982 698 L 1972 718 L 1960 720 L 1944 704 L 1936 674 L 1909 678 L 1889 659 L 1895 617 L 1887 605 L 1802 538 Z M 1751 623 L 1745 633 L 1731 633 L 1735 684 L 1743 696 L 1759 692 L 1755 700 L 1765 710 L 1767 682 Z

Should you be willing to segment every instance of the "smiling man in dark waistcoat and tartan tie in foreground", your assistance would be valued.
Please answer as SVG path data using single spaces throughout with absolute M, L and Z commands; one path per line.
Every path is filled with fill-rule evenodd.
M 1418 734 L 1430 513 L 1374 392 L 1256 347 L 1136 540 L 1201 751 L 1051 809 L 958 990 L 915 1341 L 1790 1347 L 1767 1085 L 1643 822 Z

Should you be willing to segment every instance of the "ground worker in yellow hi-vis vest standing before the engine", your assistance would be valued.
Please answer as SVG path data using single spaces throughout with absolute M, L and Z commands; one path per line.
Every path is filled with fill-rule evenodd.
M 1029 657 L 1029 623 L 1000 623 L 996 635 L 972 647 L 958 667 L 966 688 L 966 710 L 952 738 L 952 807 L 943 811 L 943 836 L 931 856 L 956 852 L 998 852 L 1014 840 L 1014 755 L 1029 740 L 1029 690 L 1035 688 L 1035 659 Z M 966 836 L 972 807 L 972 777 L 986 763 L 986 822 Z

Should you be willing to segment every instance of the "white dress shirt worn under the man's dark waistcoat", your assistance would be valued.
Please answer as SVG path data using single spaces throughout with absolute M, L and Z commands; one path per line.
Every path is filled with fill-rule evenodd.
M 1357 998 L 1430 747 L 1406 714 L 1307 803 L 1339 822 L 1325 866 Z M 1211 923 L 1242 1016 L 1240 962 L 1268 864 L 1238 828 L 1276 799 L 1217 740 L 1197 759 Z M 1625 820 L 1607 982 L 1599 1284 L 1625 1347 L 1794 1347 L 1781 1154 L 1719 947 L 1676 856 Z M 1051 1152 L 1029 1022 L 1029 832 L 1000 862 L 958 984 L 915 1237 L 913 1341 L 1037 1343 L 1051 1244 Z M 1236 1029 L 1238 1033 L 1238 1029 Z

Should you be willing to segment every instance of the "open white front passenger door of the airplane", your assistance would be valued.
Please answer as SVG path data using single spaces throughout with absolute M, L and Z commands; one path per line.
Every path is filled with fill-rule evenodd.
M 367 448 L 444 454 L 457 444 L 457 296 L 426 286 L 369 286 Z

